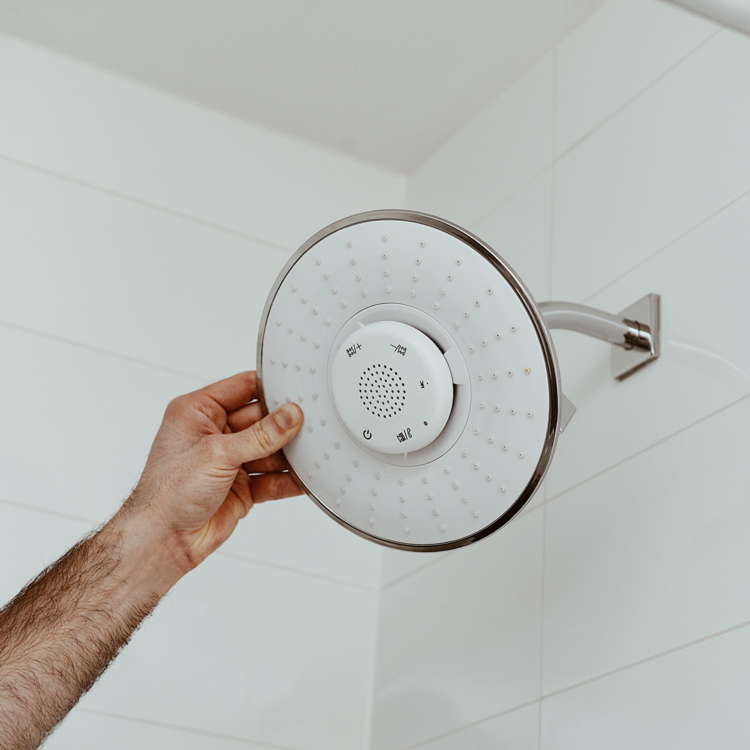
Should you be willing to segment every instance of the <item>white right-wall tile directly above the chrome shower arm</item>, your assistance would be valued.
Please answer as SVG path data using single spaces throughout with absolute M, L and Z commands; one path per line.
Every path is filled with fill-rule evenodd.
M 587 299 L 750 190 L 748 76 L 748 38 L 721 31 L 556 163 L 556 299 Z

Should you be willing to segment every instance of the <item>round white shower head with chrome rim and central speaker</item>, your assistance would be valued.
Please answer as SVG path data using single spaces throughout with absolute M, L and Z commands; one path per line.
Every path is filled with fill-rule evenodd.
M 434 217 L 359 214 L 303 245 L 269 296 L 258 363 L 266 407 L 305 413 L 284 449 L 302 487 L 381 544 L 493 532 L 553 454 L 559 379 L 535 303 Z

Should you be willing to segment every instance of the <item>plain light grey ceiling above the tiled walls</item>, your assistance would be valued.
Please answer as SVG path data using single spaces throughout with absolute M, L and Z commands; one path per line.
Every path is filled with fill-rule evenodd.
M 410 172 L 604 0 L 3 0 L 0 31 Z

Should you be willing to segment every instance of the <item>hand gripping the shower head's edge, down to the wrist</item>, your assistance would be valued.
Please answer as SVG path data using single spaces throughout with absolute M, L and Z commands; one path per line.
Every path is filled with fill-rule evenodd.
M 301 494 L 278 451 L 299 431 L 302 410 L 284 404 L 263 417 L 257 396 L 257 374 L 245 372 L 171 401 L 125 505 L 175 541 L 186 569 L 255 503 Z

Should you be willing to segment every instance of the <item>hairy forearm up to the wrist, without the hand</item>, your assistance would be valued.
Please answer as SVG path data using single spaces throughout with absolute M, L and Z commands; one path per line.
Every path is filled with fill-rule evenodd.
M 0 610 L 0 747 L 36 748 L 187 570 L 128 505 Z

